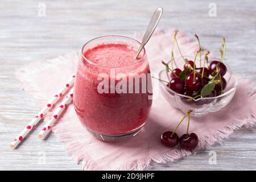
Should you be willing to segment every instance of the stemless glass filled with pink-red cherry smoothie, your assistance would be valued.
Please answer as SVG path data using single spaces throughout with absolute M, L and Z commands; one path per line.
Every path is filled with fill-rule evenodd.
M 77 65 L 74 105 L 84 127 L 106 141 L 135 135 L 152 105 L 150 69 L 139 42 L 103 36 L 82 47 Z

